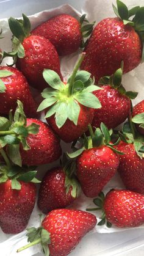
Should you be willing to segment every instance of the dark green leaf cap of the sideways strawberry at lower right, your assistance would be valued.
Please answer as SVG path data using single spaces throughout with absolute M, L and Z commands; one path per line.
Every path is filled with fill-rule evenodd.
M 99 211 L 99 210 L 101 210 L 102 211 L 102 214 L 101 214 L 101 217 L 100 217 L 101 221 L 99 221 L 97 225 L 101 226 L 101 225 L 104 225 L 106 223 L 106 226 L 110 228 L 110 227 L 112 227 L 112 224 L 109 221 L 106 221 L 106 214 L 105 214 L 105 211 L 104 211 L 104 199 L 105 199 L 104 193 L 103 193 L 103 191 L 101 191 L 99 193 L 98 197 L 93 199 L 93 203 L 95 203 L 96 208 L 87 208 L 86 211 Z

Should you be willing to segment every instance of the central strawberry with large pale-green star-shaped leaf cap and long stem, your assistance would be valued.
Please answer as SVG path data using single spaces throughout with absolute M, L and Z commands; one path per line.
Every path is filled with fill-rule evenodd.
M 83 53 L 67 84 L 54 71 L 43 71 L 43 77 L 52 88 L 46 88 L 41 93 L 45 100 L 38 111 L 46 109 L 46 120 L 65 142 L 72 142 L 81 136 L 87 130 L 88 123 L 92 123 L 94 108 L 101 107 L 92 93 L 99 87 L 93 85 L 90 73 L 77 71 L 84 56 Z

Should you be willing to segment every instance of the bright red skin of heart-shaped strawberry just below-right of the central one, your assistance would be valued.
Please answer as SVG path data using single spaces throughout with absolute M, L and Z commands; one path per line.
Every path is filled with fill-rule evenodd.
M 77 178 L 87 197 L 96 197 L 115 175 L 119 158 L 109 147 L 84 150 L 77 158 Z

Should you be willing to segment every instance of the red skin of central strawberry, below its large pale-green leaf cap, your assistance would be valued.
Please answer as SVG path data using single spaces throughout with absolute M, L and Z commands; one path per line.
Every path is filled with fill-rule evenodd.
M 83 105 L 81 106 L 81 111 L 79 113 L 79 119 L 77 125 L 74 125 L 69 119 L 65 124 L 59 129 L 56 125 L 54 115 L 49 117 L 47 122 L 51 125 L 52 130 L 54 130 L 65 142 L 73 142 L 74 139 L 79 138 L 82 134 L 88 130 L 88 123 L 92 123 L 94 109 L 87 108 Z

